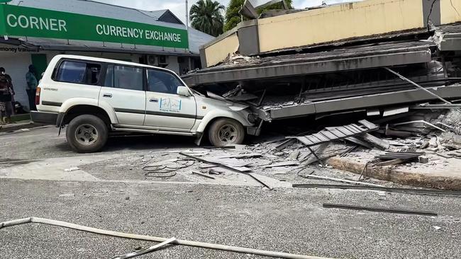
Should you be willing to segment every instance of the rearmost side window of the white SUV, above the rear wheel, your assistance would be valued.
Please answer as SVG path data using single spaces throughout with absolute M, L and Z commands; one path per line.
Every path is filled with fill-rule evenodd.
M 56 81 L 74 84 L 98 84 L 101 64 L 65 60 L 60 64 Z

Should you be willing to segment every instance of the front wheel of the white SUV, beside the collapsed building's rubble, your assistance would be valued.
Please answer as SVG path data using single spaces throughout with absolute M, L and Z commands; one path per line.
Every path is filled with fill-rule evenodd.
M 242 144 L 245 139 L 245 128 L 236 120 L 218 119 L 209 128 L 208 138 L 213 146 Z

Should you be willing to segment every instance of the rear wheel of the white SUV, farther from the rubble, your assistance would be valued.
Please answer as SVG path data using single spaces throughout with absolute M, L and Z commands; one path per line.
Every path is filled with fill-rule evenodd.
M 69 145 L 79 153 L 91 153 L 102 149 L 109 135 L 106 123 L 94 115 L 79 115 L 67 125 Z

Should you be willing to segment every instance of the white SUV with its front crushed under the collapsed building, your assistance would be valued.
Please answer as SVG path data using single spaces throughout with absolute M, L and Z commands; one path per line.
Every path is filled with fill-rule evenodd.
M 37 88 L 33 122 L 64 127 L 78 152 L 101 149 L 110 132 L 197 137 L 214 146 L 240 144 L 256 134 L 246 105 L 191 91 L 174 72 L 112 59 L 57 55 Z M 246 130 L 245 130 L 246 129 Z

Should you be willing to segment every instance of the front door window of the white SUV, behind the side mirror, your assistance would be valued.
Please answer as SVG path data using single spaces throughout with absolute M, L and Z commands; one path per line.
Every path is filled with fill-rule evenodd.
M 166 71 L 148 70 L 148 91 L 157 93 L 177 93 L 183 84 L 176 76 Z

